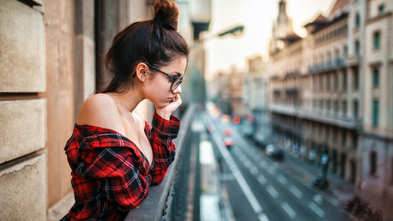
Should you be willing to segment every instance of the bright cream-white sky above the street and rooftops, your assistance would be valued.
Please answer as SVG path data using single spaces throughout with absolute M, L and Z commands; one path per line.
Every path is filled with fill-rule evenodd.
M 267 59 L 272 35 L 272 22 L 277 18 L 279 0 L 211 0 L 209 33 L 218 34 L 244 25 L 239 37 L 226 35 L 205 44 L 206 79 L 218 72 L 229 72 L 234 66 L 246 70 L 247 59 L 262 55 Z M 322 13 L 327 16 L 336 0 L 286 0 L 286 12 L 298 35 L 305 37 L 305 24 Z

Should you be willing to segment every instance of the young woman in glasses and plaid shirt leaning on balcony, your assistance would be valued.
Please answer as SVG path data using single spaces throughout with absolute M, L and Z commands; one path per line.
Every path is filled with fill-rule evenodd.
M 108 86 L 82 105 L 65 151 L 75 204 L 62 221 L 121 221 L 159 184 L 174 160 L 189 46 L 177 32 L 173 0 L 156 0 L 154 19 L 120 31 L 105 64 Z M 152 125 L 138 104 L 156 106 Z

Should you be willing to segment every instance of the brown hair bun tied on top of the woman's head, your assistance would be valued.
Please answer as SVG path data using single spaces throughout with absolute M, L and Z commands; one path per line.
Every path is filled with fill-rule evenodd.
M 162 23 L 162 27 L 177 31 L 179 8 L 174 0 L 156 0 L 153 4 L 153 15 Z

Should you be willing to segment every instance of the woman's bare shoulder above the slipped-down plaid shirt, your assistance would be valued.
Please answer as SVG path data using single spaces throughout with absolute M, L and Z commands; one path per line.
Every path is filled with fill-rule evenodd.
M 78 125 L 92 125 L 125 135 L 124 123 L 114 99 L 108 94 L 95 94 L 79 110 Z

